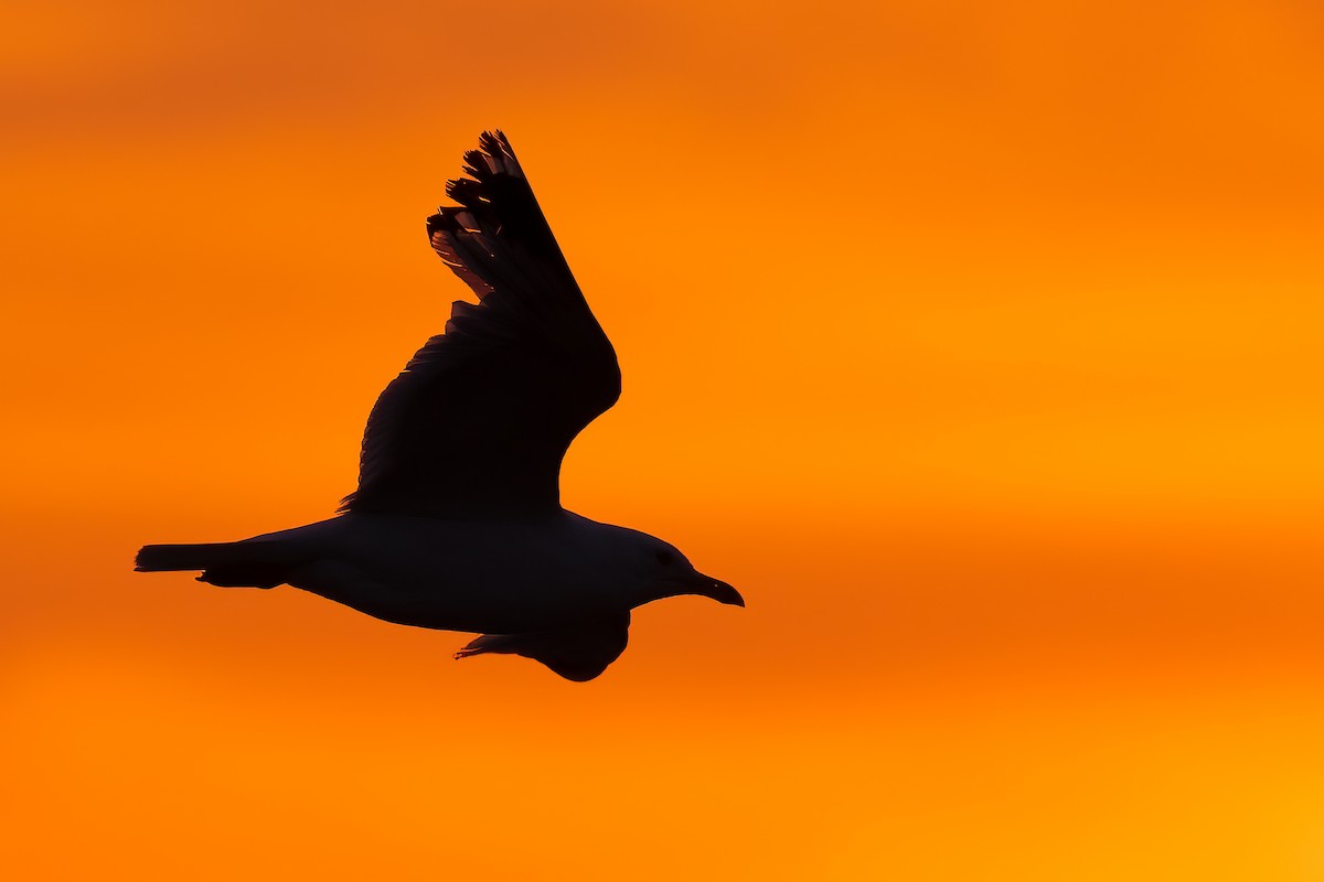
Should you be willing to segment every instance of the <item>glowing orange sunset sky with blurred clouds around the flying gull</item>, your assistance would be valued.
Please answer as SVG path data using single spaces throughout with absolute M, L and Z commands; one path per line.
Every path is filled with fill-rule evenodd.
M 1324 878 L 1324 16 L 21 3 L 0 874 Z M 510 134 L 740 587 L 589 685 L 147 541 L 326 517 Z

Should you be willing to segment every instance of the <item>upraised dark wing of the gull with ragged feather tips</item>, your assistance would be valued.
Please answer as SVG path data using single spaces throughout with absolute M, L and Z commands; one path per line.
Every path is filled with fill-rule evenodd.
M 561 458 L 621 394 L 621 369 L 502 132 L 446 182 L 428 218 L 441 259 L 478 295 L 377 398 L 359 489 L 342 510 L 454 520 L 560 508 Z

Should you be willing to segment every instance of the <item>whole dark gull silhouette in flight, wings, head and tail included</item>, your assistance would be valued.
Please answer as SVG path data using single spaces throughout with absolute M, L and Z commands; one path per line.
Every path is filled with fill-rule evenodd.
M 694 594 L 744 606 L 662 540 L 561 508 L 561 459 L 616 403 L 621 370 L 500 131 L 428 218 L 457 300 L 368 417 L 359 487 L 327 521 L 240 542 L 147 545 L 136 570 L 290 584 L 406 625 L 478 632 L 568 680 L 625 651 L 630 610 Z

